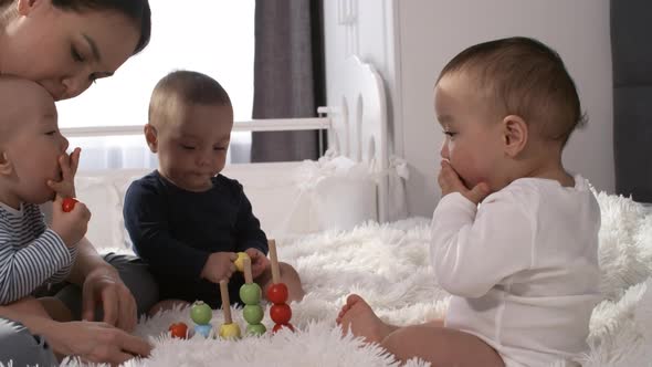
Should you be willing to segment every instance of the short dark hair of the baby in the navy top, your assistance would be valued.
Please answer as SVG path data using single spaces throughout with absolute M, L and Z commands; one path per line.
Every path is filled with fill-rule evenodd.
M 149 123 L 164 111 L 189 104 L 231 106 L 231 98 L 218 81 L 206 74 L 175 71 L 164 76 L 151 92 Z

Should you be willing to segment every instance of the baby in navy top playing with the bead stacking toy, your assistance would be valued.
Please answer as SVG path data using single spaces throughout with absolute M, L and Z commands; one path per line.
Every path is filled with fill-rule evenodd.
M 159 168 L 134 181 L 125 196 L 125 224 L 134 248 L 160 286 L 156 313 L 201 300 L 221 304 L 219 282 L 230 280 L 239 302 L 243 276 L 235 252 L 252 260 L 254 281 L 272 284 L 267 239 L 242 186 L 220 172 L 233 127 L 227 92 L 208 75 L 177 71 L 155 87 L 145 138 Z M 303 297 L 296 271 L 281 263 L 290 300 Z

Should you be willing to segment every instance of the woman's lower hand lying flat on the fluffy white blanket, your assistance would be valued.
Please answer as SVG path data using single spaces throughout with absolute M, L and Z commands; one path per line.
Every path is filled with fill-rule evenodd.
M 57 354 L 78 356 L 86 363 L 119 365 L 151 352 L 151 345 L 143 338 L 106 323 L 54 323 L 42 334 Z

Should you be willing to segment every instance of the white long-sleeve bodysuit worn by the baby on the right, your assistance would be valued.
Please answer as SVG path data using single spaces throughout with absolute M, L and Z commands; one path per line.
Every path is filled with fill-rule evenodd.
M 446 195 L 431 258 L 451 293 L 445 326 L 474 334 L 507 366 L 548 366 L 587 350 L 599 302 L 600 208 L 588 182 L 517 179 L 479 207 Z

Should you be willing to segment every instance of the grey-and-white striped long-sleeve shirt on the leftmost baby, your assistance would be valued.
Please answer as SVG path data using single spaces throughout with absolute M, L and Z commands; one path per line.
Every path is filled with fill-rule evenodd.
M 76 247 L 67 248 L 46 228 L 38 206 L 15 210 L 0 202 L 0 304 L 28 296 L 44 283 L 65 280 L 76 252 Z

